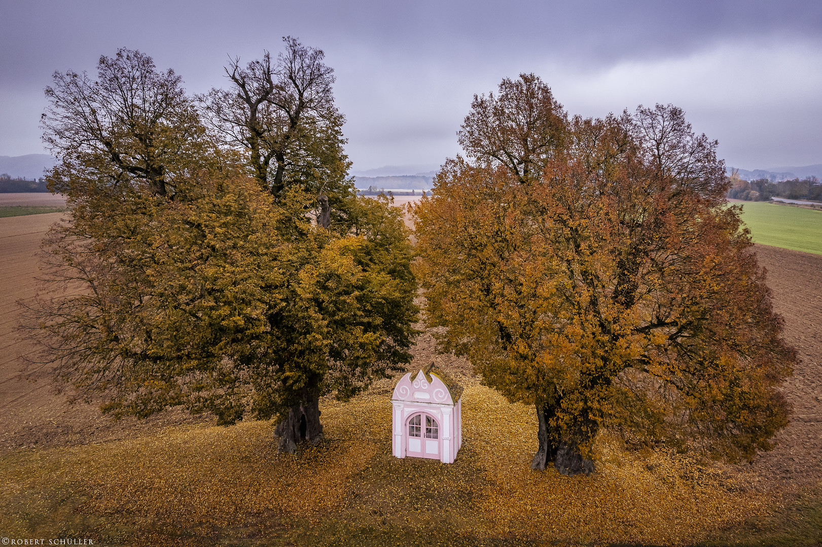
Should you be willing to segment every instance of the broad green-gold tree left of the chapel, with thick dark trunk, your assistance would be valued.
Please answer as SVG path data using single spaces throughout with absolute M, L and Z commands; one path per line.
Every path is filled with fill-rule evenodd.
M 47 179 L 70 213 L 30 324 L 78 395 L 115 416 L 275 418 L 293 451 L 321 439 L 322 396 L 410 360 L 412 253 L 387 200 L 350 196 L 345 223 L 316 222 L 315 189 L 261 186 L 139 52 L 101 57 L 96 80 L 55 74 L 46 94 Z

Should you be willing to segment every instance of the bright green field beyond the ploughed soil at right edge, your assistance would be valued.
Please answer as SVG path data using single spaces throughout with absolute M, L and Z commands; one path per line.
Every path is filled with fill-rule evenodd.
M 822 211 L 761 201 L 737 202 L 755 243 L 822 255 Z

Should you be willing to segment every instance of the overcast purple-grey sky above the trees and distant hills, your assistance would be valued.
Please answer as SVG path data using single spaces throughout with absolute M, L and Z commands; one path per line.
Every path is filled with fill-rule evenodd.
M 822 2 L 0 0 L 0 155 L 43 153 L 53 71 L 139 49 L 190 92 L 222 67 L 322 48 L 354 169 L 436 168 L 473 94 L 535 72 L 571 114 L 674 103 L 728 165 L 822 163 Z

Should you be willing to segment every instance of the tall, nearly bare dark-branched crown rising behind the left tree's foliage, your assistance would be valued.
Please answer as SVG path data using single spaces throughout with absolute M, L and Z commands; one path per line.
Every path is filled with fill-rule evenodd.
M 291 186 L 316 195 L 317 218 L 328 228 L 349 218 L 353 184 L 344 154 L 345 117 L 335 106 L 334 70 L 321 49 L 283 39 L 284 53 L 225 68 L 229 89 L 198 99 L 216 140 L 237 149 L 261 187 L 279 199 Z

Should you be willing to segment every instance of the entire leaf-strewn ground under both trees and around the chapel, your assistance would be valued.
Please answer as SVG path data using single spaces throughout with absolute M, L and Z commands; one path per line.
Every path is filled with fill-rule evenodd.
M 325 402 L 326 444 L 295 456 L 275 452 L 268 422 L 7 453 L 0 530 L 105 545 L 689 545 L 782 507 L 742 473 L 607 440 L 592 476 L 531 471 L 532 411 L 461 379 L 464 447 L 450 466 L 390 455 L 384 381 Z

